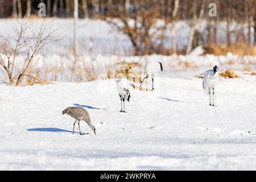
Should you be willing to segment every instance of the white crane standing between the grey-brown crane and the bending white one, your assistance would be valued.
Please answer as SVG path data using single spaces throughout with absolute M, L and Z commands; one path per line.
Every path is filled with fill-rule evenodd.
M 130 92 L 128 88 L 128 80 L 126 78 L 119 78 L 117 80 L 117 92 L 119 94 L 120 100 L 121 100 L 121 111 L 123 113 L 126 113 L 125 111 L 125 100 L 130 102 Z M 123 110 L 122 110 L 122 101 L 123 101 Z

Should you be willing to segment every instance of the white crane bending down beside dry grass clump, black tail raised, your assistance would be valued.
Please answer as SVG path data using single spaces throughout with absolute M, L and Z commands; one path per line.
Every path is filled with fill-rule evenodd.
M 154 90 L 154 76 L 155 76 L 155 73 L 159 73 L 160 71 L 161 72 L 163 71 L 162 63 L 160 63 L 159 61 L 148 61 L 148 63 L 145 65 L 145 68 L 144 68 L 144 73 L 146 73 L 147 76 L 141 80 L 141 85 L 142 85 L 142 82 L 148 78 L 148 76 L 151 76 L 152 90 Z

